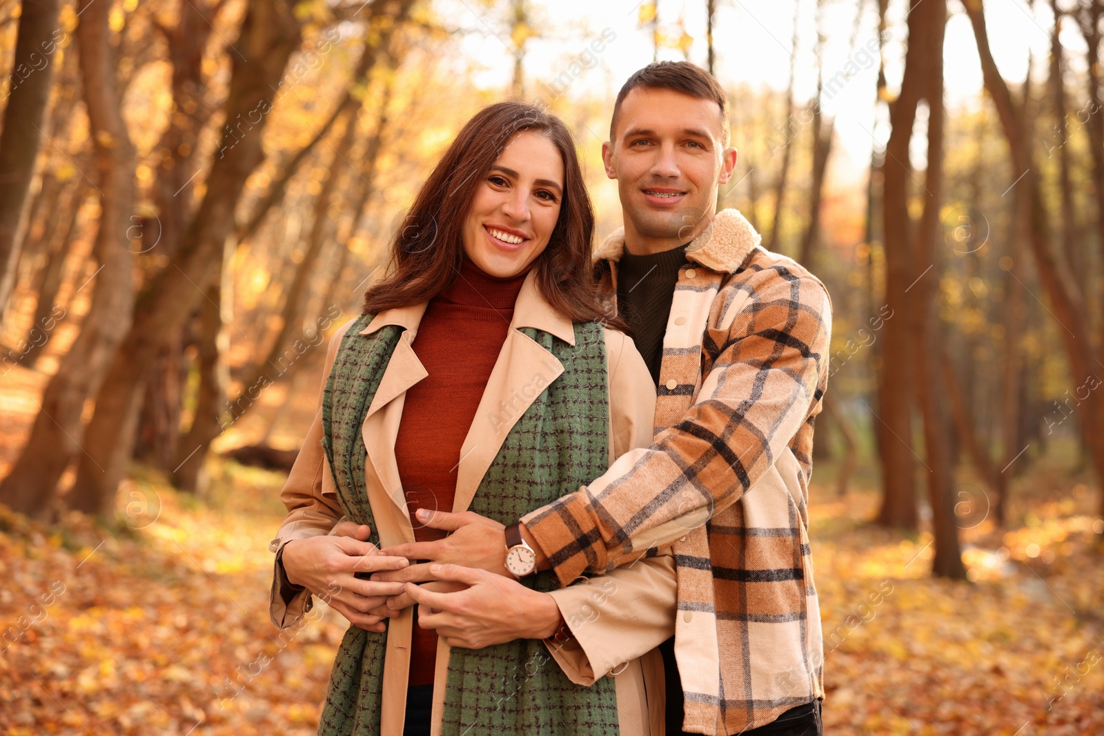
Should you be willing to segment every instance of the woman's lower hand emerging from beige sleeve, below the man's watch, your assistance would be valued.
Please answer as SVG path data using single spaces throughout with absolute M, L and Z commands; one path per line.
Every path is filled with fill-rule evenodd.
M 449 647 L 482 649 L 514 639 L 548 639 L 560 628 L 560 608 L 546 593 L 514 579 L 459 565 L 429 566 L 443 583 L 466 586 L 435 593 L 428 585 L 406 584 L 418 604 L 418 626 L 435 629 Z

